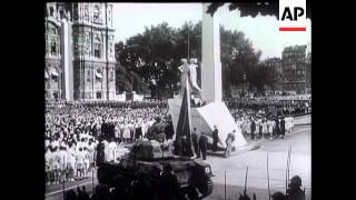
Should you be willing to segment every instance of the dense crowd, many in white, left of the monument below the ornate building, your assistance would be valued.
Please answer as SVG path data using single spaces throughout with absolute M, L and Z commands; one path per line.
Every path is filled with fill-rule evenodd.
M 105 161 L 115 161 L 120 143 L 145 138 L 157 117 L 168 120 L 168 110 L 161 101 L 66 102 L 44 117 L 46 182 L 57 184 L 88 178 L 100 143 Z

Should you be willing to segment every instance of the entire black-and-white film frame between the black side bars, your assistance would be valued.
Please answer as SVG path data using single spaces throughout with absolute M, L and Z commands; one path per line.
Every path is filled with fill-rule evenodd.
M 47 2 L 44 41 L 46 200 L 312 199 L 306 0 Z

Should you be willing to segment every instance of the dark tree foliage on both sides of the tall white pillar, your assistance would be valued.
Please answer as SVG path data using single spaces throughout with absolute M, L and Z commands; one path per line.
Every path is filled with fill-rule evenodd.
M 273 86 L 273 81 L 267 80 L 269 69 L 259 64 L 261 52 L 253 48 L 244 32 L 221 27 L 220 40 L 222 87 L 226 96 L 231 94 L 231 87 L 243 86 L 244 74 L 249 89 L 263 91 L 266 86 Z M 180 73 L 178 67 L 181 64 L 180 59 L 188 57 L 188 47 L 189 58 L 197 58 L 200 62 L 201 21 L 195 24 L 186 22 L 178 29 L 166 22 L 146 27 L 142 33 L 129 38 L 126 43 L 117 43 L 117 60 L 122 66 L 117 72 L 119 88 L 141 91 L 140 84 L 150 84 L 151 89 L 158 89 L 156 94 L 160 97 L 177 90 Z M 129 77 L 131 74 L 134 80 Z M 152 80 L 156 84 L 152 84 Z

